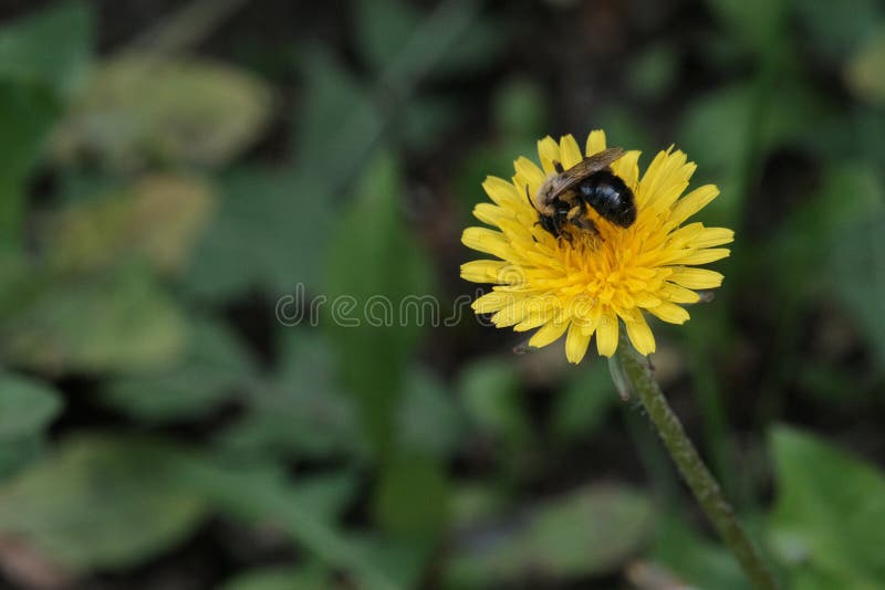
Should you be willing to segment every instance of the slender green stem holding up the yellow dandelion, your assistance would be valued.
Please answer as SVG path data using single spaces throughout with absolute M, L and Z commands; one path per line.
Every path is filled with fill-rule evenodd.
M 635 392 L 642 400 L 648 418 L 655 425 L 660 440 L 664 441 L 664 445 L 669 451 L 683 478 L 753 586 L 764 590 L 777 589 L 778 584 L 774 578 L 738 521 L 735 509 L 726 501 L 719 484 L 686 435 L 681 422 L 673 413 L 660 387 L 652 376 L 646 359 L 639 356 L 626 340 L 626 338 L 621 338 L 616 352 L 623 375 L 629 382 L 632 392 Z

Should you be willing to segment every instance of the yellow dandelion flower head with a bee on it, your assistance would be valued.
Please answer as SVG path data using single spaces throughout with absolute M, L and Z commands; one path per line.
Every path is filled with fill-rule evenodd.
M 605 149 L 605 133 L 594 130 L 584 154 Z M 538 143 L 541 167 L 525 157 L 513 162 L 512 181 L 489 177 L 482 187 L 492 202 L 482 202 L 473 214 L 490 228 L 468 228 L 461 241 L 497 260 L 461 265 L 461 277 L 496 286 L 473 302 L 478 314 L 493 314 L 498 327 L 516 331 L 537 329 L 529 346 L 542 347 L 565 336 L 571 362 L 584 357 L 593 335 L 600 355 L 617 348 L 620 325 L 643 355 L 655 350 L 655 337 L 645 312 L 670 324 L 688 319 L 684 304 L 697 303 L 695 289 L 718 287 L 722 275 L 697 265 L 729 255 L 717 247 L 733 240 L 725 228 L 685 223 L 719 194 L 705 185 L 683 196 L 696 165 L 683 151 L 660 151 L 639 177 L 638 151 L 626 151 L 612 170 L 633 190 L 636 221 L 620 228 L 592 208 L 587 214 L 598 235 L 569 230 L 570 239 L 556 239 L 542 229 L 538 211 L 527 199 L 550 175 L 554 162 L 565 169 L 583 159 L 574 137 Z

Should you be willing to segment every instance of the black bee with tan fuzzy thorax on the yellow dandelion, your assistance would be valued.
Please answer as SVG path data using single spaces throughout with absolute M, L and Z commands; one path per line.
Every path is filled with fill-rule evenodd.
M 595 235 L 600 232 L 587 217 L 587 206 L 621 228 L 636 221 L 636 199 L 626 182 L 610 166 L 624 155 L 621 148 L 608 148 L 563 169 L 554 161 L 556 173 L 548 178 L 534 197 L 525 196 L 538 211 L 538 223 L 555 238 L 571 239 L 565 229 L 571 224 Z

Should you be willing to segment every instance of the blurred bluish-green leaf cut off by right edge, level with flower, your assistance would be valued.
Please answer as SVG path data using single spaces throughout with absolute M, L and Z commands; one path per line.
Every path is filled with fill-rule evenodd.
M 833 245 L 832 287 L 885 367 L 885 208 L 851 224 Z

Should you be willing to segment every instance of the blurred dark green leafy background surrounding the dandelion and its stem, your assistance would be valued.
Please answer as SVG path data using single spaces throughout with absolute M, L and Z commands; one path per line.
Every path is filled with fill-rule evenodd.
M 600 127 L 737 231 L 654 326 L 728 496 L 785 588 L 885 588 L 877 0 L 4 0 L 0 586 L 747 588 L 604 359 L 277 319 L 449 315 L 485 176 Z

